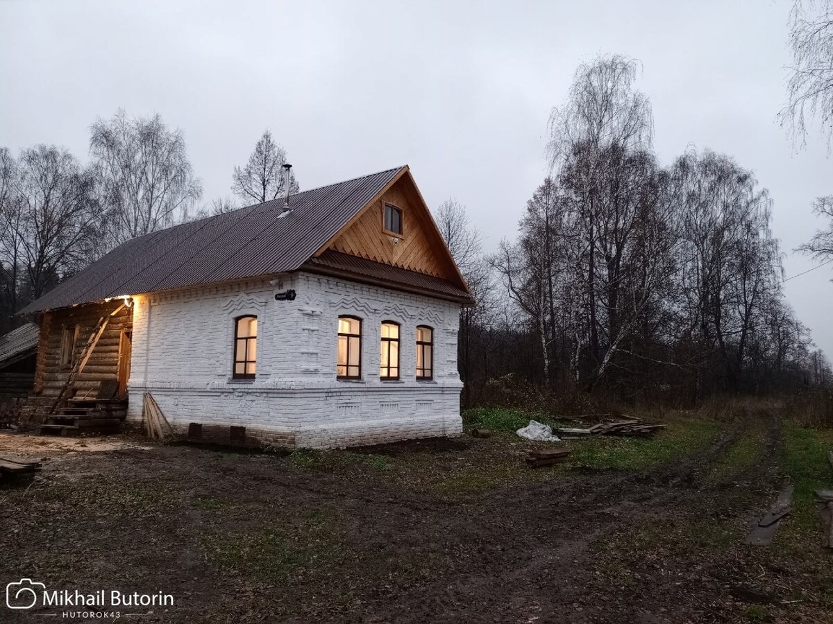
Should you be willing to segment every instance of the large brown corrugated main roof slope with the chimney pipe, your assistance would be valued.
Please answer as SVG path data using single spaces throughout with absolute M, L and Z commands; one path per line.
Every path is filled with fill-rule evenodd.
M 297 270 L 405 167 L 176 225 L 118 246 L 22 313 Z

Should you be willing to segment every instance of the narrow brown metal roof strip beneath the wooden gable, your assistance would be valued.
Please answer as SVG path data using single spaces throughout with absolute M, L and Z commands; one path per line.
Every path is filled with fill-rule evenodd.
M 359 258 L 332 249 L 325 251 L 317 258 L 311 258 L 302 268 L 312 271 L 335 270 L 340 275 L 351 275 L 359 281 L 367 281 L 367 278 L 370 278 L 372 281 L 390 285 L 404 285 L 411 290 L 438 295 L 444 299 L 465 304 L 474 302 L 466 290 L 462 290 L 451 282 L 441 280 L 433 275 L 401 269 L 398 266 L 384 265 L 381 262 Z

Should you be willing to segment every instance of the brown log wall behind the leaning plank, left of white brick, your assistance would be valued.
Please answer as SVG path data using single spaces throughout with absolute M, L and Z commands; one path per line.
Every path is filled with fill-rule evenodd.
M 44 396 L 57 396 L 72 370 L 72 365 L 61 364 L 61 336 L 63 328 L 74 329 L 79 326 L 72 354 L 72 362 L 82 358 L 84 346 L 95 330 L 98 319 L 112 313 L 122 300 L 112 300 L 102 304 L 79 305 L 66 310 L 53 310 L 44 313 L 41 321 L 41 338 L 37 347 L 37 369 L 35 372 L 35 391 Z M 118 349 L 122 339 L 122 330 L 131 330 L 133 310 L 125 306 L 113 316 L 81 374 L 75 381 L 77 394 L 86 390 L 95 391 L 102 381 L 116 380 L 118 374 Z M 94 395 L 94 393 L 93 393 Z

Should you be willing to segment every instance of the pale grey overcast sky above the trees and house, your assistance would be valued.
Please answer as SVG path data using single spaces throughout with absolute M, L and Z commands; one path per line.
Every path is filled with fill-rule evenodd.
M 87 161 L 97 116 L 160 113 L 185 133 L 204 200 L 269 128 L 302 189 L 408 164 L 429 205 L 465 204 L 493 249 L 546 176 L 546 121 L 600 53 L 638 59 L 669 163 L 711 147 L 755 171 L 791 250 L 833 193 L 820 135 L 794 151 L 786 99 L 791 2 L 81 2 L 0 0 L 0 146 Z M 833 355 L 833 265 L 786 295 Z

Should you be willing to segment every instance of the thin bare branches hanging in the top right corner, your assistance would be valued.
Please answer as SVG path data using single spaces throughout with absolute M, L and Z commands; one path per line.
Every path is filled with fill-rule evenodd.
M 817 117 L 829 148 L 833 136 L 833 0 L 795 0 L 790 12 L 790 47 L 789 102 L 779 115 L 781 124 L 803 145 L 807 117 Z

